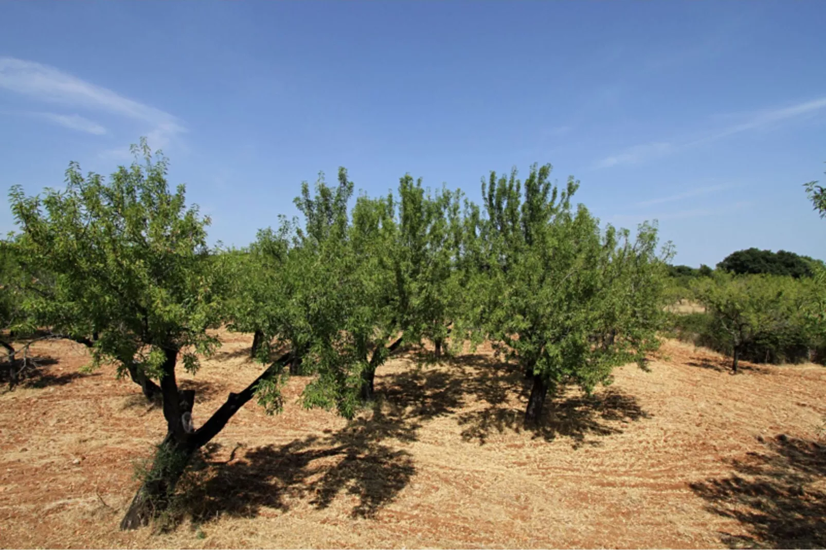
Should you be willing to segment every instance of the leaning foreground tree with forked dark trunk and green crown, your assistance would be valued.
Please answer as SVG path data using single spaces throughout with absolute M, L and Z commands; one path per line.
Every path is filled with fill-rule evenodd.
M 195 391 L 180 391 L 176 372 L 180 363 L 196 372 L 198 355 L 220 344 L 207 329 L 221 323 L 231 273 L 207 247 L 208 218 L 187 207 L 183 186 L 169 191 L 167 160 L 156 154 L 153 161 L 145 140 L 133 152 L 145 164 L 121 167 L 109 181 L 95 173 L 84 177 L 73 163 L 64 191 L 26 197 L 13 187 L 10 193 L 21 258 L 55 275 L 52 292 L 29 295 L 27 311 L 39 325 L 71 337 L 97 334 L 93 364 L 112 362 L 119 372 L 158 381 L 152 384 L 163 398 L 167 435 L 121 529 L 145 524 L 168 504 L 192 454 L 253 396 L 268 410 L 278 408 L 273 377 L 285 363 L 282 358 L 230 393 L 202 426 L 192 424 Z

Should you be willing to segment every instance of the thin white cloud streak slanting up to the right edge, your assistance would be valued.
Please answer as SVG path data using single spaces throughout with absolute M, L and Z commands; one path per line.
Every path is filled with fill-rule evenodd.
M 686 149 L 694 145 L 706 144 L 714 140 L 720 140 L 729 135 L 735 135 L 748 130 L 757 130 L 772 124 L 779 124 L 790 119 L 804 116 L 814 115 L 826 108 L 826 97 L 819 97 L 818 99 L 809 102 L 802 102 L 789 107 L 781 107 L 778 109 L 759 111 L 752 114 L 746 121 L 734 124 L 723 129 L 710 130 L 705 135 L 695 138 L 693 140 L 681 140 L 679 142 L 660 141 L 656 143 L 634 145 L 628 149 L 617 154 L 611 154 L 604 159 L 596 162 L 594 168 L 610 168 L 621 164 L 639 164 L 665 154 L 671 154 L 675 151 Z

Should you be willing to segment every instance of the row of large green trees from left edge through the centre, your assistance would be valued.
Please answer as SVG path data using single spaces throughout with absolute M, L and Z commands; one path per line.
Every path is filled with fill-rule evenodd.
M 657 250 L 653 225 L 601 230 L 572 203 L 579 184 L 551 183 L 549 165 L 524 181 L 491 173 L 482 206 L 410 176 L 353 200 L 341 168 L 333 185 L 303 184 L 301 223 L 223 250 L 207 246 L 209 219 L 183 186 L 169 189 L 167 159 L 145 141 L 133 152 L 108 180 L 73 163 L 63 191 L 12 188 L 20 233 L 2 243 L 0 289 L 4 328 L 73 339 L 162 401 L 167 434 L 122 529 L 167 505 L 192 454 L 247 401 L 281 410 L 289 373 L 311 376 L 306 406 L 352 417 L 402 344 L 432 342 L 439 357 L 489 339 L 529 377 L 535 423 L 561 386 L 590 391 L 657 348 L 670 246 Z M 195 392 L 176 374 L 197 372 L 221 325 L 253 333 L 265 367 L 195 426 Z

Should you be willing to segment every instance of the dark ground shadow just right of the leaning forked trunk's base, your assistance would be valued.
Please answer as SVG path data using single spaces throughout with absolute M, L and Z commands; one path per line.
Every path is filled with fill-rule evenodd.
M 184 508 L 199 524 L 221 515 L 252 518 L 263 508 L 286 511 L 308 497 L 324 509 L 344 494 L 357 498 L 354 517 L 373 518 L 415 475 L 411 454 L 382 439 L 411 439 L 412 431 L 379 414 L 335 434 L 253 448 L 226 462 L 212 461 L 220 449 L 213 443 L 189 473 Z

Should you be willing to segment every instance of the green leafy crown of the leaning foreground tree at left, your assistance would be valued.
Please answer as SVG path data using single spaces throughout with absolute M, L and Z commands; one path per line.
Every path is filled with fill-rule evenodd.
M 108 182 L 72 163 L 64 191 L 26 197 L 12 187 L 9 202 L 22 230 L 17 254 L 31 277 L 22 306 L 32 322 L 74 338 L 97 334 L 95 363 L 157 376 L 166 348 L 215 348 L 206 330 L 221 320 L 225 277 L 206 244 L 209 219 L 186 206 L 183 186 L 169 191 L 167 159 L 153 161 L 145 140 L 133 153 L 145 163 Z M 185 364 L 194 371 L 197 357 L 188 353 Z

